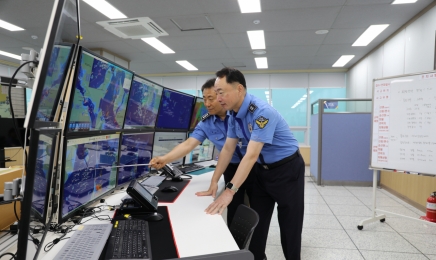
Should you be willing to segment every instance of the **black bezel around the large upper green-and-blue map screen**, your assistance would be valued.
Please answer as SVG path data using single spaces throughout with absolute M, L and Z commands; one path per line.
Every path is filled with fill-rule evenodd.
M 82 60 L 82 53 L 83 52 L 88 52 L 89 54 L 96 56 L 99 59 L 102 59 L 104 61 L 106 61 L 107 63 L 111 63 L 125 71 L 128 71 L 130 73 L 132 73 L 132 81 L 130 82 L 130 88 L 129 88 L 129 95 L 127 96 L 127 100 L 129 100 L 130 97 L 130 90 L 132 89 L 132 83 L 133 83 L 133 78 L 135 76 L 135 73 L 133 71 L 131 71 L 130 69 L 127 69 L 113 61 L 110 61 L 109 59 L 106 59 L 105 57 L 94 53 L 93 51 L 83 47 L 83 46 L 79 46 L 78 52 L 77 52 L 77 59 L 76 59 L 76 70 L 74 72 L 74 76 L 73 76 L 73 82 L 72 82 L 72 87 L 71 87 L 71 93 L 70 93 L 70 100 L 69 100 L 69 104 L 68 104 L 68 112 L 67 112 L 67 118 L 66 118 L 66 122 L 65 122 L 65 135 L 67 136 L 83 136 L 84 134 L 90 134 L 90 135 L 105 135 L 105 134 L 111 134 L 114 132 L 121 132 L 124 131 L 124 122 L 126 121 L 126 114 L 124 114 L 124 119 L 121 125 L 120 129 L 107 129 L 107 130 L 88 130 L 88 131 L 82 131 L 82 132 L 72 132 L 70 131 L 69 125 L 70 125 L 70 119 L 71 119 L 71 113 L 72 113 L 72 109 L 73 109 L 73 101 L 74 101 L 74 96 L 76 94 L 76 83 L 77 83 L 77 76 L 80 72 L 79 66 L 80 66 L 80 62 Z M 125 113 L 127 112 L 127 103 L 126 103 L 126 110 Z

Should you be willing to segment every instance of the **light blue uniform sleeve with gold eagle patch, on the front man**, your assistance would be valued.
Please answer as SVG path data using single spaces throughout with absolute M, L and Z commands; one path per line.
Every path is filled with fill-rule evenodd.
M 253 117 L 253 132 L 250 140 L 271 144 L 279 117 L 269 107 L 256 111 Z

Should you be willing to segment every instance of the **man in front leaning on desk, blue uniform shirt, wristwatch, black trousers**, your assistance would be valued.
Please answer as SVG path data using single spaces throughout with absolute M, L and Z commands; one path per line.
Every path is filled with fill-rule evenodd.
M 259 214 L 259 224 L 251 239 L 250 251 L 256 260 L 265 259 L 269 225 L 277 203 L 283 253 L 286 259 L 300 259 L 305 167 L 298 142 L 277 110 L 247 93 L 240 71 L 224 68 L 216 76 L 217 99 L 230 111 L 230 117 L 227 140 L 215 174 L 224 172 L 238 144 L 248 141 L 248 147 L 235 176 L 206 213 L 221 214 L 253 168 L 251 208 Z

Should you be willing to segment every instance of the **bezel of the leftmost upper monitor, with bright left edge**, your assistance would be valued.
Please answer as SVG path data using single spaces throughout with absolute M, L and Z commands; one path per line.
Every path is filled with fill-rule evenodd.
M 43 45 L 43 56 L 39 60 L 39 64 L 42 63 L 42 66 L 39 67 L 37 74 L 35 76 L 35 83 L 33 85 L 32 91 L 32 99 L 31 99 L 31 108 L 30 113 L 26 114 L 26 120 L 24 121 L 24 126 L 27 128 L 42 128 L 42 127 L 59 127 L 59 122 L 55 121 L 37 121 L 36 120 L 36 114 L 38 113 L 39 103 L 35 102 L 37 100 L 41 99 L 42 91 L 44 89 L 45 79 L 48 71 L 48 67 L 50 65 L 50 58 L 52 55 L 53 47 L 55 45 L 55 38 L 57 31 L 60 26 L 61 16 L 63 14 L 63 9 L 66 4 L 67 0 L 56 0 L 54 2 L 52 13 L 51 13 L 51 19 L 48 25 L 48 31 L 45 36 L 44 45 Z M 78 45 L 80 42 L 79 35 L 81 35 L 81 28 L 80 28 L 80 10 L 79 10 L 79 1 L 75 1 L 76 4 L 76 14 L 77 14 L 77 42 L 71 43 L 73 45 Z M 50 47 L 50 48 L 49 48 Z M 50 50 L 50 51 L 48 51 Z M 71 63 L 69 64 L 71 66 Z M 63 82 L 65 84 L 65 79 L 68 75 L 65 75 Z M 35 100 L 37 99 L 37 100 Z M 59 103 L 59 100 L 57 100 L 56 105 Z M 53 112 L 53 111 L 52 111 Z

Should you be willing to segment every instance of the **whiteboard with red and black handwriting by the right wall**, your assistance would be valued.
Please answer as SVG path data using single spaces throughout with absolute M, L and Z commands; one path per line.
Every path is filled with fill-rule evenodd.
M 371 168 L 436 175 L 436 71 L 373 83 Z

